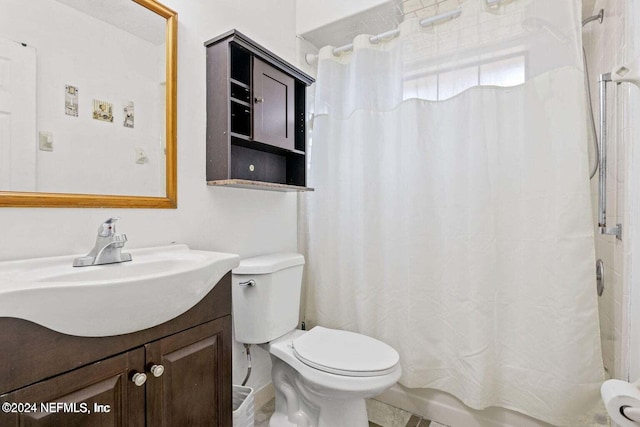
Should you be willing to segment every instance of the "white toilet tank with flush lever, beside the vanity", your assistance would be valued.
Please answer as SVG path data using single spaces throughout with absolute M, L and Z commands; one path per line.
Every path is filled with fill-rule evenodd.
M 303 265 L 300 254 L 276 253 L 243 259 L 232 270 L 236 341 L 266 343 L 298 326 Z

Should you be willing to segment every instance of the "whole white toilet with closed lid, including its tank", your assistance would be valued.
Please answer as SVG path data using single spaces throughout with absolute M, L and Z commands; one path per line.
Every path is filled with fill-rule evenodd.
M 398 381 L 398 353 L 353 332 L 295 329 L 304 257 L 279 253 L 233 270 L 236 340 L 271 354 L 276 410 L 270 427 L 366 427 L 364 399 Z

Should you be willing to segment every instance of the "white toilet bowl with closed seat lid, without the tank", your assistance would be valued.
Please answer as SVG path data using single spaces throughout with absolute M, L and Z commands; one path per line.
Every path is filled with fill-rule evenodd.
M 318 332 L 321 333 L 316 337 Z M 269 422 L 270 427 L 369 425 L 364 399 L 377 396 L 398 381 L 402 372 L 398 353 L 380 341 L 351 332 L 347 334 L 370 340 L 368 346 L 335 349 L 333 347 L 342 342 L 340 339 L 331 342 L 331 336 L 341 333 L 344 331 L 321 327 L 308 332 L 295 330 L 263 345 L 271 355 L 271 379 L 276 390 L 276 411 Z M 325 341 L 325 348 L 317 355 L 313 352 L 316 342 L 309 341 L 311 345 L 304 348 L 306 358 L 303 358 L 298 352 L 302 347 L 299 343 L 303 340 L 303 344 L 308 344 L 304 341 L 308 337 L 313 341 L 317 338 L 317 344 L 325 339 L 329 341 Z M 362 341 L 356 339 L 353 343 L 362 344 Z M 345 354 L 353 350 L 364 353 L 358 350 L 368 351 L 369 348 L 377 351 L 364 357 Z M 334 351 L 333 357 L 328 357 L 331 351 Z M 354 364 L 352 356 L 361 357 L 362 364 Z

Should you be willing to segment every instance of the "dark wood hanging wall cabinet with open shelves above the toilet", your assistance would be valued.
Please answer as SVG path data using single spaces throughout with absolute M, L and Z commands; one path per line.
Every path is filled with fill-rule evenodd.
M 313 78 L 236 30 L 207 48 L 207 184 L 308 191 Z

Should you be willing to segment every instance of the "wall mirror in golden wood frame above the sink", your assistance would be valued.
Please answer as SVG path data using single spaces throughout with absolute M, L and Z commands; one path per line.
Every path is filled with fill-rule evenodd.
M 177 14 L 0 0 L 0 206 L 175 208 Z

